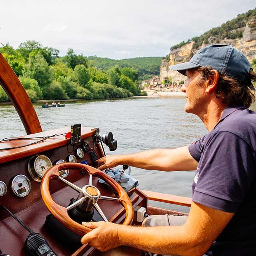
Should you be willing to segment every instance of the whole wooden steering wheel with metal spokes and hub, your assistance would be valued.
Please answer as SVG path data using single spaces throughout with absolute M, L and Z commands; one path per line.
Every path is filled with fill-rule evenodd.
M 69 182 L 68 180 L 62 178 L 60 176 L 61 170 L 82 170 L 89 174 L 89 183 L 88 185 L 83 186 L 82 188 L 76 186 L 72 182 Z M 100 191 L 98 188 L 92 185 L 92 176 L 96 176 L 98 178 L 102 178 L 104 181 L 106 181 L 116 192 L 118 193 L 119 198 L 109 197 L 109 196 L 102 196 L 100 194 Z M 52 179 L 60 179 L 64 183 L 66 183 L 68 186 L 76 190 L 77 192 L 82 195 L 82 197 L 68 206 L 67 208 L 60 206 L 59 204 L 56 204 L 54 200 L 52 199 L 52 196 L 50 194 L 49 189 L 49 182 Z M 76 232 L 77 234 L 84 235 L 91 231 L 90 228 L 87 228 L 78 222 L 75 222 L 70 218 L 68 215 L 68 210 L 82 204 L 85 201 L 90 201 L 92 206 L 97 210 L 97 212 L 100 214 L 100 216 L 105 220 L 108 221 L 104 213 L 102 212 L 100 206 L 98 205 L 98 200 L 114 200 L 120 202 L 126 211 L 126 218 L 123 222 L 123 225 L 130 225 L 133 220 L 133 208 L 132 203 L 130 201 L 130 198 L 124 191 L 124 189 L 110 176 L 105 174 L 104 172 L 93 168 L 91 166 L 85 165 L 85 164 L 79 164 L 79 163 L 63 163 L 63 164 L 57 164 L 50 168 L 42 178 L 41 182 L 41 194 L 42 199 L 44 201 L 44 204 L 48 208 L 48 210 L 52 213 L 52 215 L 60 221 L 64 226 L 69 228 L 70 230 Z

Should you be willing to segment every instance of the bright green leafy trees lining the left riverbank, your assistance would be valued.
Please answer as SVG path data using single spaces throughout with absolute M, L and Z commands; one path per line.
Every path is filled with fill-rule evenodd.
M 141 95 L 138 81 L 140 73 L 132 64 L 116 66 L 114 63 L 108 68 L 99 69 L 94 61 L 83 54 L 76 54 L 72 49 L 60 57 L 57 49 L 34 40 L 20 44 L 17 49 L 2 44 L 0 52 L 32 102 L 39 99 L 90 100 Z M 0 102 L 6 101 L 9 99 L 0 86 Z

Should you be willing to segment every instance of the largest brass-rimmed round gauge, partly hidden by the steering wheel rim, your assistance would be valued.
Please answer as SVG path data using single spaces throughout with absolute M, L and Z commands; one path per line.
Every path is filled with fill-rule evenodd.
M 38 182 L 41 182 L 45 172 L 51 167 L 51 160 L 44 155 L 33 156 L 28 162 L 28 172 L 32 178 Z

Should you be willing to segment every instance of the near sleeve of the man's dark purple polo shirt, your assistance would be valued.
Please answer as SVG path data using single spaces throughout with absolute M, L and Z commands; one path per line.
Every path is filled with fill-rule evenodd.
M 192 149 L 192 154 L 195 151 Z M 237 135 L 213 134 L 203 148 L 192 201 L 236 212 L 255 180 L 255 157 L 252 148 Z

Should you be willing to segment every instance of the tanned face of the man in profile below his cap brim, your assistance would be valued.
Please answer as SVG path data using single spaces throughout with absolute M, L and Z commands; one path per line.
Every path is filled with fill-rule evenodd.
M 182 86 L 182 92 L 186 93 L 184 110 L 187 113 L 200 115 L 206 102 L 205 86 L 200 73 L 195 69 L 186 70 L 187 80 Z

